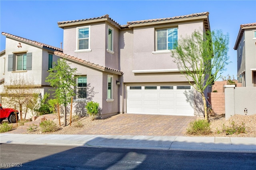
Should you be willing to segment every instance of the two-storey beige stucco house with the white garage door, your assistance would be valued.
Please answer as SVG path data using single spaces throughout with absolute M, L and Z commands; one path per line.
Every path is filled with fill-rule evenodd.
M 201 96 L 171 57 L 182 36 L 210 30 L 208 12 L 128 22 L 108 15 L 58 22 L 63 51 L 54 55 L 76 67 L 74 113 L 87 101 L 100 104 L 102 118 L 117 113 L 203 115 Z M 207 91 L 206 93 L 207 94 Z

